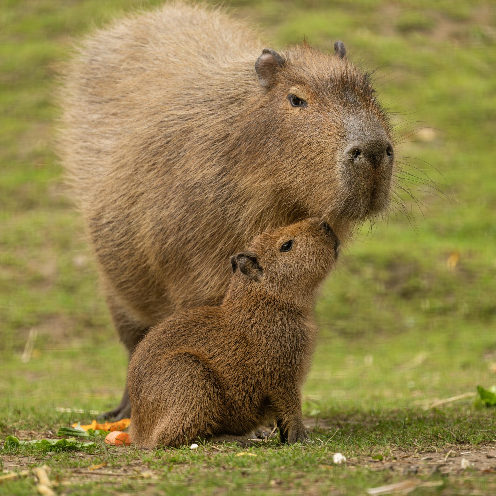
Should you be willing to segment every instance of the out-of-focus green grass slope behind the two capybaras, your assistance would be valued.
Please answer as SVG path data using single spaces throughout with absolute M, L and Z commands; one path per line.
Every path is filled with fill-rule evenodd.
M 127 358 L 51 148 L 55 76 L 95 26 L 158 3 L 1 2 L 3 417 L 105 410 L 120 399 Z M 307 415 L 417 408 L 496 383 L 494 2 L 245 0 L 227 8 L 259 25 L 274 48 L 306 36 L 332 50 L 340 39 L 353 60 L 379 67 L 382 101 L 413 131 L 400 138 L 400 153 L 449 197 L 414 191 L 424 205 L 412 202 L 413 226 L 401 214 L 366 225 L 342 256 L 317 307 Z

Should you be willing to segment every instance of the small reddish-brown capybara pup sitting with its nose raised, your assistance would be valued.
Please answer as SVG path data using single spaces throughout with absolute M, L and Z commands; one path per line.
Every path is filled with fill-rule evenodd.
M 304 441 L 300 390 L 317 334 L 313 306 L 338 248 L 322 219 L 269 229 L 231 258 L 219 306 L 180 310 L 151 329 L 127 373 L 133 442 L 246 443 L 233 436 L 274 420 L 283 442 Z

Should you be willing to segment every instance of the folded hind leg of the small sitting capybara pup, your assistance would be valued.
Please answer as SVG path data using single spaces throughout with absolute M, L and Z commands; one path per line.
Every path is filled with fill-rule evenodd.
M 167 364 L 167 408 L 152 434 L 153 443 L 182 446 L 218 433 L 224 395 L 208 361 L 193 353 L 175 353 Z

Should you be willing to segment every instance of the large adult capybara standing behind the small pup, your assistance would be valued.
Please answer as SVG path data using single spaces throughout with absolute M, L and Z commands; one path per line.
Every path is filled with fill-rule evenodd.
M 346 240 L 387 206 L 391 131 L 341 42 L 277 53 L 219 9 L 171 3 L 96 31 L 65 74 L 60 155 L 129 352 L 218 303 L 222 261 L 267 227 L 318 216 Z M 108 415 L 129 414 L 124 392 Z

